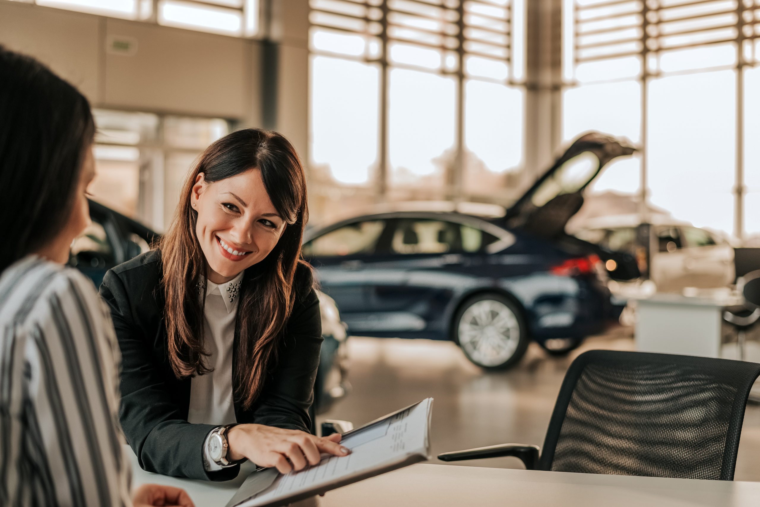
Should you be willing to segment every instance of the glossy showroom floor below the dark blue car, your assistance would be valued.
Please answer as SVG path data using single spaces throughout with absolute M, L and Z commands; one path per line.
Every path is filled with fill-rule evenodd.
M 498 443 L 543 445 L 568 365 L 594 348 L 632 350 L 629 329 L 588 339 L 569 357 L 548 357 L 531 345 L 518 367 L 483 373 L 451 342 L 401 339 L 350 339 L 353 390 L 320 419 L 350 420 L 356 426 L 388 412 L 435 398 L 432 455 Z M 435 458 L 433 463 L 443 464 Z M 517 458 L 461 461 L 455 464 L 522 468 Z M 735 480 L 760 480 L 760 406 L 746 411 Z

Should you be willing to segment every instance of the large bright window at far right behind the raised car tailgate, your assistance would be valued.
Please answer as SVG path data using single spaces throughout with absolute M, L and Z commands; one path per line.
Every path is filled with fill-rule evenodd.
M 563 28 L 564 139 L 644 148 L 595 190 L 643 182 L 678 219 L 760 232 L 760 0 L 565 0 Z

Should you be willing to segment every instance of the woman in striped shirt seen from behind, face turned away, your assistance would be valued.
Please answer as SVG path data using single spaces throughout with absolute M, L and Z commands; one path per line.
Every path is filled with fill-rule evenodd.
M 126 506 L 119 351 L 105 305 L 64 266 L 90 221 L 87 99 L 0 46 L 0 505 Z M 135 505 L 185 505 L 147 485 Z

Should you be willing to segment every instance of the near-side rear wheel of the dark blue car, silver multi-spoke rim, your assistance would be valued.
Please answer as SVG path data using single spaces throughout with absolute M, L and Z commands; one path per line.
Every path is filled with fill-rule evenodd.
M 518 364 L 530 344 L 520 308 L 501 294 L 478 294 L 464 301 L 451 326 L 454 342 L 467 359 L 486 370 Z

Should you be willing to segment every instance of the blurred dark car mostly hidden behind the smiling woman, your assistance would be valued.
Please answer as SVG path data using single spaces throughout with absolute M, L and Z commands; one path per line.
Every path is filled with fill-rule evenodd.
M 87 275 L 98 287 L 106 271 L 150 250 L 160 235 L 113 209 L 90 200 L 92 223 L 71 245 L 69 263 Z M 347 333 L 335 302 L 318 292 L 322 317 L 321 357 L 315 383 L 317 414 L 330 408 L 348 390 Z

